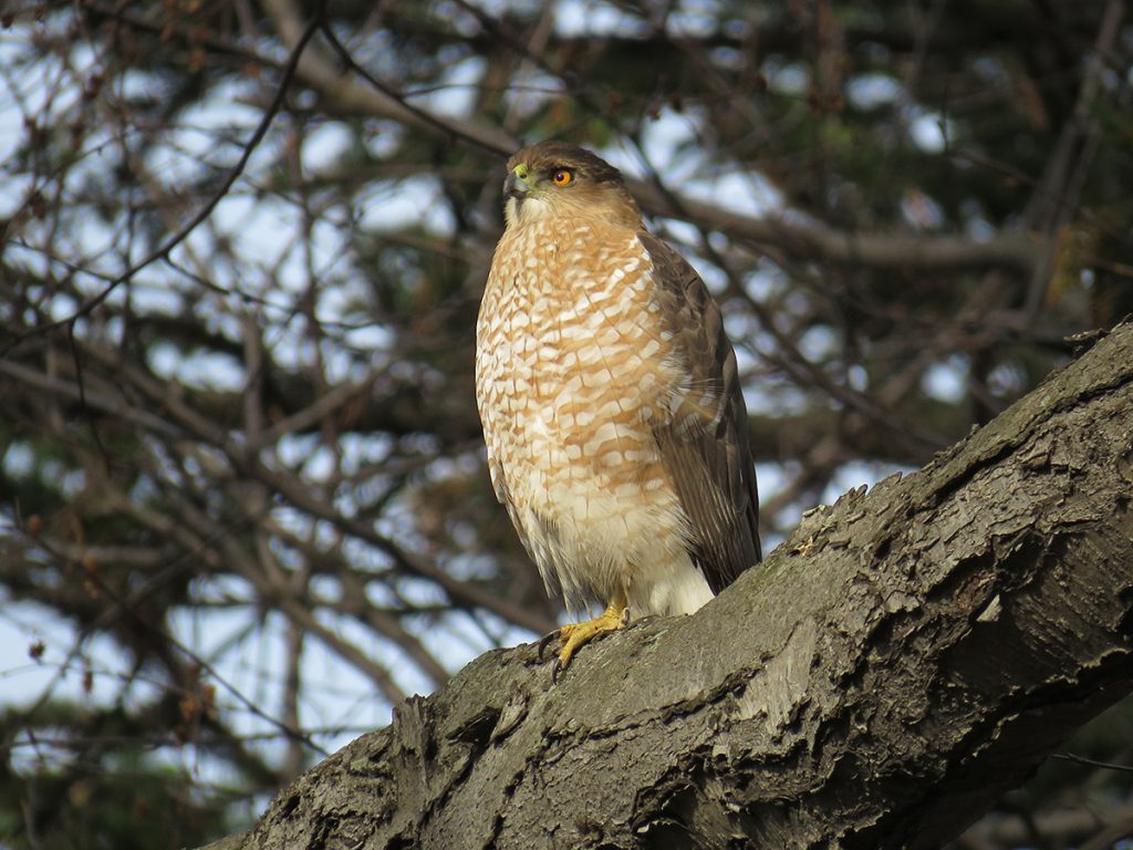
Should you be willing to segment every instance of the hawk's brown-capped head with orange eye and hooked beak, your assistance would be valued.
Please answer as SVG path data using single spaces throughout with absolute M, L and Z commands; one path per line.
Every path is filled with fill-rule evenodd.
M 641 213 L 621 172 L 577 145 L 540 142 L 525 147 L 508 160 L 503 192 L 509 228 L 551 216 L 641 227 Z

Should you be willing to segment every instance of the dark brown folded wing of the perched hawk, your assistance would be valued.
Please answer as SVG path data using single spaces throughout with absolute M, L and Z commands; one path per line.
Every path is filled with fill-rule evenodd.
M 662 315 L 683 355 L 688 385 L 672 418 L 654 428 L 681 507 L 692 524 L 692 560 L 719 593 L 763 556 L 759 496 L 735 352 L 700 275 L 668 245 L 638 237 L 653 261 Z

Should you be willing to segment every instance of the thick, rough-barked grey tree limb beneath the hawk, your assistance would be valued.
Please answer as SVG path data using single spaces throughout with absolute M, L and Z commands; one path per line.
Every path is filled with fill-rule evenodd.
M 492 652 L 242 848 L 931 848 L 1133 689 L 1133 324 L 557 687 Z

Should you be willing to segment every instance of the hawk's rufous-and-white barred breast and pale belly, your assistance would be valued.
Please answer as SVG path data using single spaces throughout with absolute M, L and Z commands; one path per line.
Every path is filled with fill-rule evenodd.
M 605 596 L 687 561 L 687 520 L 653 427 L 682 384 L 633 231 L 539 221 L 501 239 L 477 322 L 493 483 L 548 585 Z

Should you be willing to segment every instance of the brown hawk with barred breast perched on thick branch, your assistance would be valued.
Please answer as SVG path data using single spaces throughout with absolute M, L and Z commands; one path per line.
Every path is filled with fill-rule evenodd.
M 548 593 L 607 606 L 562 628 L 557 674 L 629 612 L 691 613 L 759 561 L 758 496 L 719 308 L 617 169 L 537 144 L 504 193 L 476 324 L 492 484 Z

